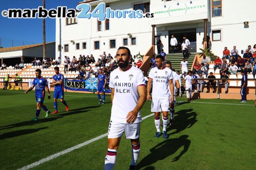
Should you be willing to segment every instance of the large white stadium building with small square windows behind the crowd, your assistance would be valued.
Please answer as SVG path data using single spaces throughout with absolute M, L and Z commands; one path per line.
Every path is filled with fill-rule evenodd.
M 101 2 L 114 11 L 140 9 L 151 15 L 102 22 L 97 18 L 56 19 L 56 57 L 93 54 L 97 58 L 104 51 L 113 56 L 119 46 L 127 46 L 133 55 L 144 54 L 154 42 L 152 36 L 159 37 L 169 53 L 171 35 L 179 46 L 186 35 L 190 51 L 200 52 L 204 31 L 210 37 L 212 52 L 218 56 L 222 56 L 225 46 L 232 50 L 236 45 L 241 54 L 248 45 L 256 44 L 255 0 L 86 0 L 79 5 L 89 4 L 92 12 Z

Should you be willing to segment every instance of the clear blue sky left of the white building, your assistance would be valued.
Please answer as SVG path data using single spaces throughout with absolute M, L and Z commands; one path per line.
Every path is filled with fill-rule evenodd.
M 76 8 L 79 0 L 45 0 L 46 8 L 67 6 Z M 0 1 L 0 12 L 9 8 L 38 8 L 43 6 L 42 0 L 11 0 Z M 10 19 L 0 14 L 0 46 L 6 48 L 43 42 L 43 19 Z M 46 42 L 55 41 L 55 19 L 46 18 Z M 13 41 L 12 41 L 13 40 Z M 12 43 L 13 42 L 13 43 Z M 33 43 L 32 43 L 33 42 Z

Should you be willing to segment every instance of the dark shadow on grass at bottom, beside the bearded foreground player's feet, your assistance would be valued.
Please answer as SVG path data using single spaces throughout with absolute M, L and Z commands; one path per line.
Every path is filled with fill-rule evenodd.
M 168 156 L 173 155 L 183 147 L 183 150 L 175 158 L 171 158 L 172 162 L 176 162 L 181 158 L 185 152 L 188 151 L 191 141 L 188 138 L 188 135 L 181 135 L 179 138 L 167 139 L 159 143 L 155 147 L 150 149 L 150 154 L 144 157 L 141 162 L 136 166 L 137 169 L 155 169 L 155 167 L 147 167 L 151 164 L 158 162 L 159 160 L 166 159 Z

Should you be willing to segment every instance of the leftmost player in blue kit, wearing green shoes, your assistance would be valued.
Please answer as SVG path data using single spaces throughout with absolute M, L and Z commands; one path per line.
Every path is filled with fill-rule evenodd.
M 41 107 L 42 109 L 44 109 L 44 111 L 46 111 L 46 117 L 48 117 L 48 114 L 50 113 L 50 111 L 46 108 L 46 105 L 44 105 L 44 96 L 46 94 L 46 91 L 48 94 L 48 99 L 51 99 L 51 96 L 49 94 L 48 83 L 47 83 L 47 80 L 41 76 L 41 74 L 42 74 L 42 71 L 40 69 L 35 70 L 36 78 L 33 80 L 32 86 L 28 88 L 27 91 L 25 91 L 25 94 L 27 94 L 29 91 L 31 91 L 35 87 L 37 109 L 36 109 L 36 116 L 31 121 L 38 120 Z

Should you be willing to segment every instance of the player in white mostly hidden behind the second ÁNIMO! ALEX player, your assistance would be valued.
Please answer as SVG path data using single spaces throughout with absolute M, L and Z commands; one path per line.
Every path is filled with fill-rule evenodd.
M 172 64 L 170 61 L 166 62 L 166 67 L 172 70 Z M 171 94 L 171 95 L 174 96 L 174 101 L 172 101 L 171 107 L 170 107 L 170 126 L 174 124 L 174 113 L 175 113 L 174 104 L 176 102 L 176 95 L 179 94 L 179 91 L 177 90 L 180 88 L 179 76 L 174 70 L 172 70 L 172 76 L 174 77 L 174 79 L 172 79 L 172 83 L 174 84 L 174 94 Z

